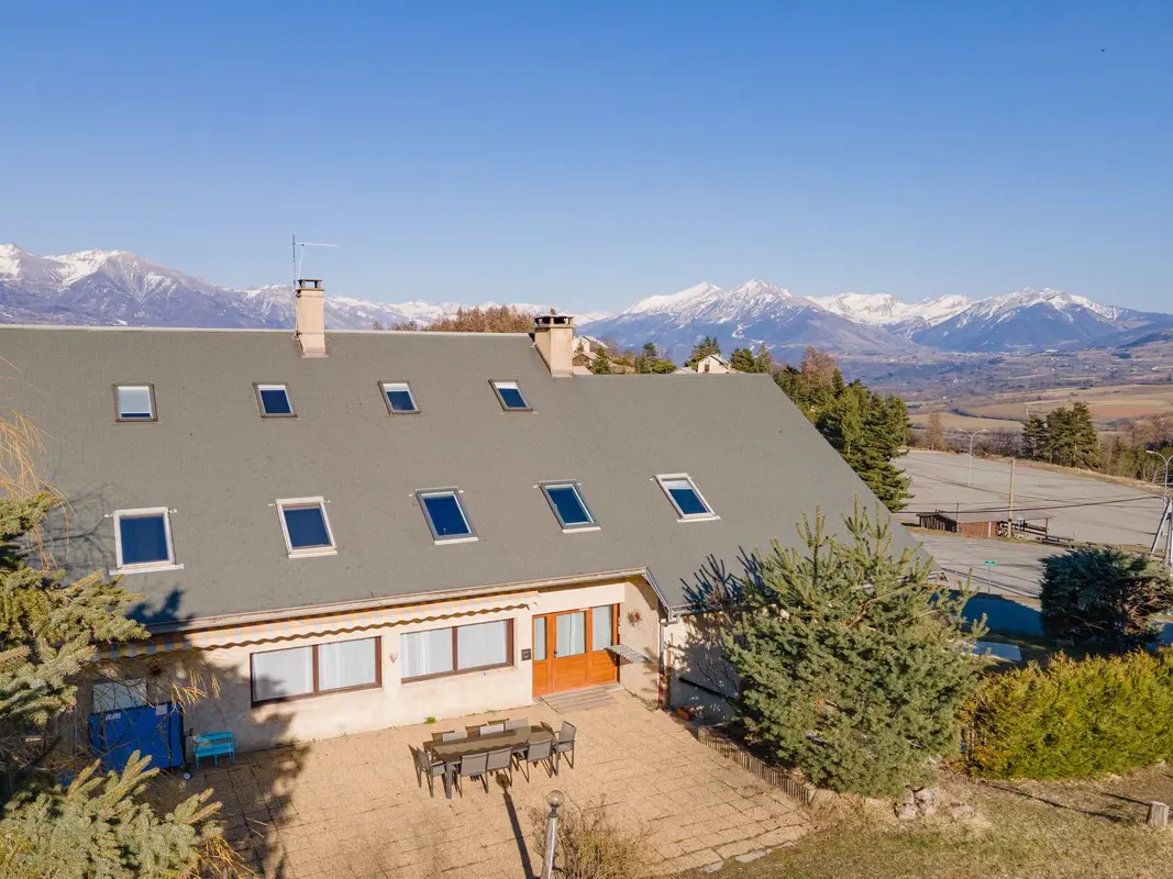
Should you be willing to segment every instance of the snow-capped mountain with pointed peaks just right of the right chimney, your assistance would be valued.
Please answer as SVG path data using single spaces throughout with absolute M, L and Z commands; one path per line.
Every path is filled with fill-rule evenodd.
M 655 341 L 683 360 L 701 336 L 714 335 L 725 350 L 766 345 L 794 357 L 808 345 L 859 354 L 908 354 L 915 346 L 881 328 L 834 314 L 818 302 L 758 279 L 732 289 L 697 284 L 678 293 L 649 297 L 613 318 L 591 323 L 591 335 L 638 347 Z

